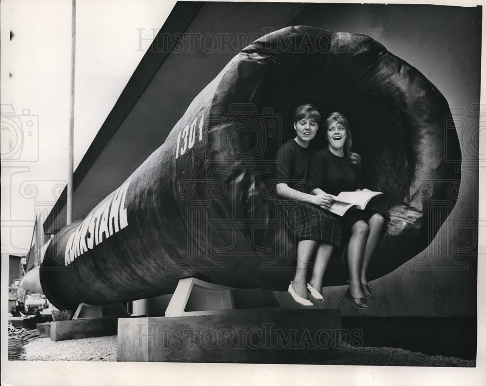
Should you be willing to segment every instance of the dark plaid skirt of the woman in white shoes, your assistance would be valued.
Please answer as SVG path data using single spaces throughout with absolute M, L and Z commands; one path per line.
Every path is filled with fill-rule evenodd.
M 299 240 L 318 240 L 339 247 L 343 243 L 341 217 L 315 205 L 291 200 L 278 200 L 287 228 Z

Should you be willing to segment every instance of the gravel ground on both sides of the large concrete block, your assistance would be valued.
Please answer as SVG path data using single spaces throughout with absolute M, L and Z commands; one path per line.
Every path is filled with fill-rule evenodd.
M 116 361 L 117 336 L 62 340 L 38 338 L 24 346 L 20 360 Z M 412 353 L 391 347 L 352 347 L 341 349 L 341 356 L 324 361 L 326 365 L 475 367 L 475 360 L 441 355 Z

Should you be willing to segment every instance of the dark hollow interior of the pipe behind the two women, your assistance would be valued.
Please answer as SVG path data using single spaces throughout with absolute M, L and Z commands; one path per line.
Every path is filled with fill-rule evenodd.
M 248 131 L 253 153 L 262 160 L 257 165 L 261 167 L 268 164 L 265 161 L 274 160 L 279 145 L 295 137 L 293 113 L 296 106 L 306 102 L 314 104 L 322 115 L 312 146 L 327 146 L 324 121 L 332 112 L 343 113 L 352 133 L 351 150 L 362 158 L 366 187 L 385 193 L 377 200 L 378 209 L 386 210 L 401 201 L 415 164 L 404 114 L 380 96 L 364 94 L 317 71 L 301 71 L 266 83 L 257 106 L 262 119 Z M 279 130 L 269 126 L 272 122 L 269 117 L 275 117 Z M 265 125 L 266 136 L 259 125 Z M 271 174 L 263 175 L 263 179 L 268 178 Z

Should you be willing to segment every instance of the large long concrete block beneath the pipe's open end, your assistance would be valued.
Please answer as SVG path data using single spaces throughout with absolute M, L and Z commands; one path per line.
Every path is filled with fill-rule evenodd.
M 339 309 L 119 319 L 118 360 L 319 364 L 342 331 Z

